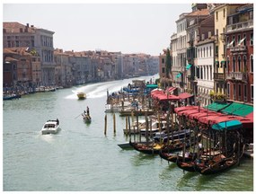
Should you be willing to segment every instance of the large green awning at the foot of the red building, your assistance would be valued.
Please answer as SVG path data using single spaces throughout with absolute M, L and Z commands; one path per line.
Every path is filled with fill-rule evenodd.
M 233 102 L 230 106 L 226 107 L 225 109 L 221 110 L 221 112 L 231 115 L 237 115 L 237 116 L 246 116 L 253 111 L 253 106 Z

